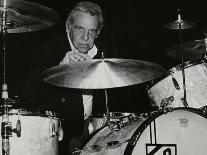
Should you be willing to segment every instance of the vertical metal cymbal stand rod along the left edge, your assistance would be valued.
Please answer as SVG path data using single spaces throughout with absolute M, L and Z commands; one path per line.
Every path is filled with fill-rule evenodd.
M 8 112 L 8 90 L 6 84 L 6 34 L 7 34 L 7 0 L 4 0 L 3 14 L 2 14 L 2 25 L 1 31 L 3 33 L 3 85 L 2 85 L 2 100 L 3 100 L 3 114 L 1 123 L 1 136 L 2 136 L 2 155 L 10 154 L 10 143 L 9 143 L 9 132 L 10 122 L 9 122 L 9 112 Z

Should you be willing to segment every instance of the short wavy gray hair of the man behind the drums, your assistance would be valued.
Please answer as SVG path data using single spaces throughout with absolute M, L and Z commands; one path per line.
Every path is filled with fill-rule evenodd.
M 67 17 L 67 24 L 72 24 L 74 21 L 74 15 L 78 12 L 88 13 L 92 16 L 98 16 L 99 26 L 98 30 L 100 31 L 103 27 L 103 14 L 101 11 L 101 7 L 93 2 L 79 2 L 73 7 L 73 9 L 69 12 Z

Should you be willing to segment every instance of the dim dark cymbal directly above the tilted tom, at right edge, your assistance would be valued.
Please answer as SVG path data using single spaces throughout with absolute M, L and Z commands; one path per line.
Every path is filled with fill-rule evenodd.
M 185 42 L 182 44 L 182 50 L 180 45 L 170 47 L 165 51 L 165 55 L 173 59 L 181 59 L 183 57 L 186 60 L 202 59 L 205 52 L 204 40 L 194 40 Z

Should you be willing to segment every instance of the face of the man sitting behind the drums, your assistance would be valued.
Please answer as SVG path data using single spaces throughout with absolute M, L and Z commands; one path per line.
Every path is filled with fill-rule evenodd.
M 86 13 L 76 14 L 74 23 L 69 25 L 67 32 L 74 47 L 81 53 L 87 53 L 94 45 L 98 36 L 98 16 Z

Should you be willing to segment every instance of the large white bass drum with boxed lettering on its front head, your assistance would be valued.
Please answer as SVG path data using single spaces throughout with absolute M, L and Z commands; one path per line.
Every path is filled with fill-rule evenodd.
M 207 119 L 194 108 L 155 112 L 125 125 L 100 129 L 81 155 L 195 155 L 206 154 Z

